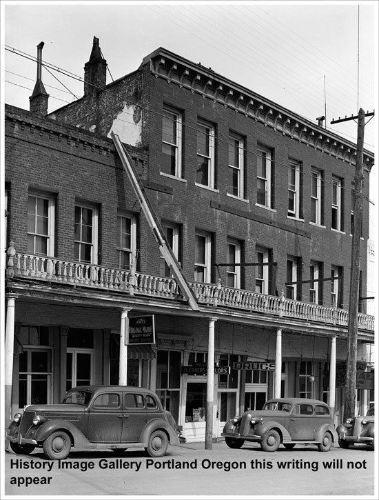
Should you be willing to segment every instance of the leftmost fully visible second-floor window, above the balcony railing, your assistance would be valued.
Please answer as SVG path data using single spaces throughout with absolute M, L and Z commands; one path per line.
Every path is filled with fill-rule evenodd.
M 54 256 L 53 197 L 30 193 L 28 197 L 28 252 Z

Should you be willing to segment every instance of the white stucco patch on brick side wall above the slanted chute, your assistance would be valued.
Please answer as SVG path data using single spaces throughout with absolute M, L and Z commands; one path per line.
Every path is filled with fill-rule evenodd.
M 141 108 L 125 103 L 123 110 L 114 117 L 107 137 L 110 137 L 111 132 L 117 134 L 121 142 L 138 146 L 142 139 Z

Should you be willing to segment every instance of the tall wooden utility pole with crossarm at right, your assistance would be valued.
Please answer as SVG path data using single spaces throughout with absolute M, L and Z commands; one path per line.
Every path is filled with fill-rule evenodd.
M 358 340 L 358 301 L 359 301 L 359 260 L 360 260 L 360 228 L 362 225 L 362 188 L 363 188 L 363 140 L 365 137 L 365 114 L 360 108 L 357 117 L 345 117 L 333 120 L 331 124 L 349 121 L 358 118 L 356 174 L 354 177 L 354 224 L 351 242 L 351 268 L 350 268 L 350 296 L 349 296 L 349 322 L 347 326 L 347 363 L 346 363 L 346 390 L 344 404 L 344 421 L 355 414 L 356 399 L 356 372 L 357 372 L 357 340 Z

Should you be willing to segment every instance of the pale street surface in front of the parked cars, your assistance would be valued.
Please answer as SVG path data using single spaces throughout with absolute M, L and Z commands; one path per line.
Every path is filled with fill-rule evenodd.
M 373 452 L 361 446 L 280 448 L 267 453 L 257 444 L 240 450 L 223 441 L 170 446 L 162 459 L 143 452 L 71 452 L 58 463 L 41 450 L 29 457 L 6 453 L 10 495 L 363 495 L 373 494 Z M 28 479 L 29 478 L 29 479 Z M 26 486 L 26 483 L 30 484 Z M 38 483 L 38 484 L 37 484 Z

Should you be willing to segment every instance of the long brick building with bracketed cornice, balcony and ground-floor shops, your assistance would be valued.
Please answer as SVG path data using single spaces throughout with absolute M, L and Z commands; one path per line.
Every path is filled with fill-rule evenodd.
M 124 381 L 156 390 L 188 440 L 204 439 L 206 401 L 213 437 L 279 394 L 324 399 L 339 423 L 355 145 L 163 48 L 107 85 L 95 38 L 83 97 L 52 114 L 37 83 L 30 111 L 6 107 L 12 410 L 57 402 L 74 385 L 118 383 L 127 365 Z M 161 257 L 112 132 L 196 308 Z M 373 154 L 364 161 L 361 296 Z M 360 309 L 364 411 L 373 317 Z M 120 325 L 151 314 L 154 345 L 125 350 Z M 207 375 L 213 350 L 226 370 Z

